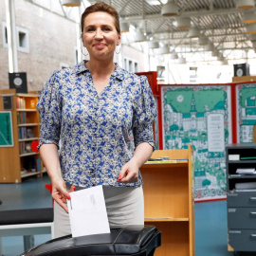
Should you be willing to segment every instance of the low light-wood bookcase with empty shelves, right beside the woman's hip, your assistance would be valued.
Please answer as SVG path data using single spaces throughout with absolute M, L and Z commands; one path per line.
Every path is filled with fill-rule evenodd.
M 162 246 L 155 256 L 194 256 L 193 151 L 157 150 L 145 163 L 143 177 L 145 224 L 162 231 Z

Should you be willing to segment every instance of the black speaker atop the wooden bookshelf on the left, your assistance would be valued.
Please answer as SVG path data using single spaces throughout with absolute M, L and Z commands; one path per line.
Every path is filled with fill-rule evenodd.
M 17 93 L 27 93 L 27 73 L 9 73 L 9 89 L 16 89 Z

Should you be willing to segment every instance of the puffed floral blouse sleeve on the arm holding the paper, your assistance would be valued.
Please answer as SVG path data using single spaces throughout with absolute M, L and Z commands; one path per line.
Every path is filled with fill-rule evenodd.
M 55 71 L 46 82 L 37 103 L 41 118 L 38 149 L 43 144 L 49 143 L 54 143 L 59 147 L 62 122 L 60 99 L 60 83 Z

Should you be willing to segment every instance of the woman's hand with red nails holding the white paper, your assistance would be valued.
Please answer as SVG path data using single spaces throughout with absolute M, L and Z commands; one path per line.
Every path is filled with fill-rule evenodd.
M 60 178 L 54 181 L 52 180 L 51 185 L 52 185 L 52 192 L 51 192 L 52 198 L 68 213 L 68 209 L 66 206 L 66 199 L 71 198 L 69 192 L 74 192 L 75 186 L 72 186 L 71 189 L 67 192 L 63 178 Z

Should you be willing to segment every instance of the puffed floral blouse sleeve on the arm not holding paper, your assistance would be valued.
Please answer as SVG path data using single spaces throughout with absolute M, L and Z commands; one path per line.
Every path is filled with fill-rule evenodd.
M 135 147 L 148 142 L 155 150 L 153 120 L 157 115 L 155 98 L 145 76 L 139 77 L 140 86 L 134 115 L 133 134 Z

